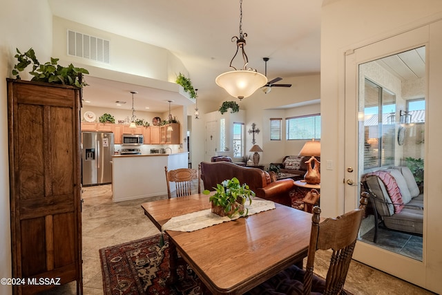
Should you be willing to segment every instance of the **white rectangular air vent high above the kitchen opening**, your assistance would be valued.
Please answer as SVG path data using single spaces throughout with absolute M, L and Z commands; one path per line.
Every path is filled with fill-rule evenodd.
M 68 55 L 110 64 L 110 41 L 68 30 Z

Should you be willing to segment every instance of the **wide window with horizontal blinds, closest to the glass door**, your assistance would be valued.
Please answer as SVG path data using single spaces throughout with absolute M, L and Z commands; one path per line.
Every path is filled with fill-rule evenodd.
M 320 140 L 320 114 L 287 117 L 287 140 Z

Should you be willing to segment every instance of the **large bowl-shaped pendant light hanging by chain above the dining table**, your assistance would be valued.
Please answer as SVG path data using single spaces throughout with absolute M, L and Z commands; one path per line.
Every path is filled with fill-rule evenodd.
M 249 64 L 249 58 L 244 51 L 244 46 L 246 45 L 245 38 L 247 37 L 247 33 L 242 32 L 242 0 L 240 0 L 240 35 L 233 36 L 232 42 L 236 39 L 236 53 L 233 55 L 233 58 L 230 61 L 230 67 L 234 70 L 230 72 L 222 73 L 218 77 L 216 77 L 215 82 L 218 86 L 224 88 L 229 95 L 233 97 L 238 97 L 238 99 L 243 99 L 245 97 L 249 97 L 258 88 L 265 86 L 267 83 L 267 77 L 258 73 L 253 68 L 247 68 L 247 64 Z M 232 61 L 235 59 L 238 54 L 238 50 L 241 48 L 242 59 L 244 60 L 244 66 L 242 66 L 241 70 L 237 70 L 234 66 L 232 66 Z

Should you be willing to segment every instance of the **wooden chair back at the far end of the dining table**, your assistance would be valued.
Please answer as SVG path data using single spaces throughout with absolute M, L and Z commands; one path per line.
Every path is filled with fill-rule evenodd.
M 201 193 L 200 165 L 198 165 L 198 170 L 191 168 L 180 168 L 171 171 L 167 171 L 167 166 L 165 166 L 164 171 L 166 171 L 167 194 L 169 199 L 172 198 L 170 182 L 175 182 L 175 192 L 177 198 L 192 194 L 192 180 L 198 180 L 198 193 Z

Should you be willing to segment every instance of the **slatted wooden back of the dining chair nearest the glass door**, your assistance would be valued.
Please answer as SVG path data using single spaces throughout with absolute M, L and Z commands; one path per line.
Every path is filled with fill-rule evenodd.
M 363 212 L 367 206 L 368 194 L 362 193 L 359 209 L 355 209 L 337 218 L 327 218 L 320 222 L 320 208 L 314 207 L 311 218 L 311 236 L 307 266 L 304 276 L 304 294 L 310 294 L 313 279 L 316 250 L 332 249 L 325 290 L 323 294 L 340 294 L 343 290 L 348 268 L 352 260 L 354 245 L 358 237 Z

